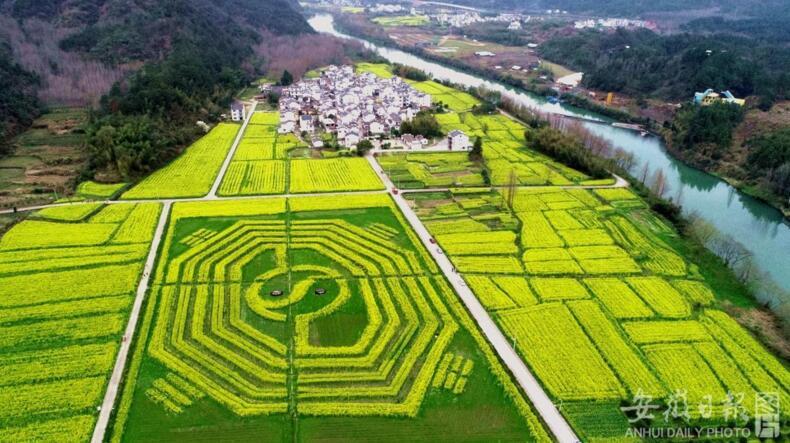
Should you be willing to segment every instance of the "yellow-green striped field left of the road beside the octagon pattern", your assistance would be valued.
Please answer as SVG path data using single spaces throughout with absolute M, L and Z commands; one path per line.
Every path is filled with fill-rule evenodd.
M 89 439 L 160 206 L 68 206 L 98 212 L 0 240 L 0 441 Z

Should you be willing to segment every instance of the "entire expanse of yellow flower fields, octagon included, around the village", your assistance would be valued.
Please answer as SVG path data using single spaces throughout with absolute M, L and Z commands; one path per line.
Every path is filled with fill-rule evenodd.
M 444 130 L 483 139 L 495 187 L 466 154 L 379 161 L 403 189 L 450 188 L 408 198 L 582 440 L 751 426 L 760 410 L 787 423 L 785 363 L 725 312 L 665 220 L 628 189 L 579 188 L 611 181 L 529 150 L 520 124 L 473 115 L 468 94 L 418 87 L 448 105 Z M 89 440 L 128 340 L 113 442 L 551 440 L 368 162 L 310 158 L 278 122 L 252 115 L 224 198 L 172 206 L 135 337 L 156 199 L 205 196 L 238 125 L 121 201 L 103 202 L 126 184 L 86 182 L 85 202 L 0 237 L 0 441 Z M 635 416 L 644 401 L 654 417 Z

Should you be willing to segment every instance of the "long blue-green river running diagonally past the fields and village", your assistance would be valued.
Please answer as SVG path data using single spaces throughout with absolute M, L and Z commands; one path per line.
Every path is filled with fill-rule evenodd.
M 562 104 L 550 104 L 542 97 L 515 91 L 499 83 L 429 62 L 403 51 L 376 46 L 365 40 L 338 32 L 331 15 L 322 14 L 311 18 L 310 24 L 322 33 L 345 39 L 361 41 L 366 47 L 392 63 L 411 66 L 433 75 L 438 80 L 448 80 L 467 87 L 485 86 L 518 103 L 544 112 L 583 116 L 607 121 L 578 108 Z M 674 159 L 656 137 L 641 137 L 638 133 L 621 129 L 608 123 L 585 121 L 584 125 L 593 133 L 610 141 L 613 146 L 634 154 L 639 171 L 647 163 L 651 171 L 663 170 L 667 178 L 668 195 L 680 203 L 686 214 L 694 212 L 712 223 L 722 233 L 729 234 L 743 243 L 754 254 L 760 269 L 767 272 L 785 291 L 790 291 L 790 225 L 782 214 L 765 203 L 739 192 L 723 180 L 686 166 Z M 785 302 L 788 300 L 776 300 Z

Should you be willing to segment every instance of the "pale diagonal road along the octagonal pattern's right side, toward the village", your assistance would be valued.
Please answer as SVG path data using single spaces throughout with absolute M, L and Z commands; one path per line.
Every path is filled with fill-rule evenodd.
M 393 189 L 394 186 L 392 181 L 390 181 L 387 174 L 384 173 L 384 170 L 379 166 L 376 159 L 371 155 L 368 155 L 367 158 L 373 170 L 376 171 L 381 180 L 388 188 Z M 406 201 L 400 193 L 394 195 L 393 198 L 398 208 L 400 208 L 401 212 L 403 212 L 403 215 L 406 217 L 406 220 L 409 221 L 411 227 L 417 232 L 422 243 L 428 248 L 431 256 L 433 256 L 434 260 L 439 265 L 439 268 L 441 268 L 444 275 L 450 281 L 455 292 L 461 297 L 461 301 L 464 302 L 467 309 L 469 309 L 469 312 L 472 314 L 472 317 L 477 321 L 478 326 L 480 326 L 483 334 L 488 338 L 489 343 L 494 346 L 499 357 L 510 369 L 510 372 L 515 376 L 519 385 L 524 389 L 524 392 L 527 393 L 535 409 L 543 418 L 543 421 L 546 422 L 549 429 L 551 429 L 554 436 L 562 443 L 580 441 L 573 432 L 573 429 L 571 429 L 571 426 L 562 414 L 560 414 L 556 406 L 554 406 L 549 396 L 543 388 L 541 388 L 535 376 L 532 375 L 529 368 L 527 368 L 527 365 L 524 364 L 524 361 L 510 345 L 508 339 L 496 323 L 494 323 L 494 320 L 491 319 L 491 316 L 488 315 L 483 305 L 480 304 L 480 301 L 474 293 L 466 286 L 464 279 L 460 274 L 455 272 L 455 267 L 450 262 L 450 259 L 447 258 L 447 255 L 444 254 L 441 248 L 431 243 L 431 234 L 428 232 L 428 229 L 425 228 L 425 225 L 422 224 L 419 217 L 417 217 L 417 214 L 411 209 L 408 201 Z

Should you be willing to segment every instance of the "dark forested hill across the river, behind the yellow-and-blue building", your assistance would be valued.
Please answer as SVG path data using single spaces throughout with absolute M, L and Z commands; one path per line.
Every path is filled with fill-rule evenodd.
M 759 96 L 764 107 L 790 97 L 790 50 L 744 37 L 587 31 L 546 42 L 540 51 L 606 91 L 688 100 L 714 88 Z

